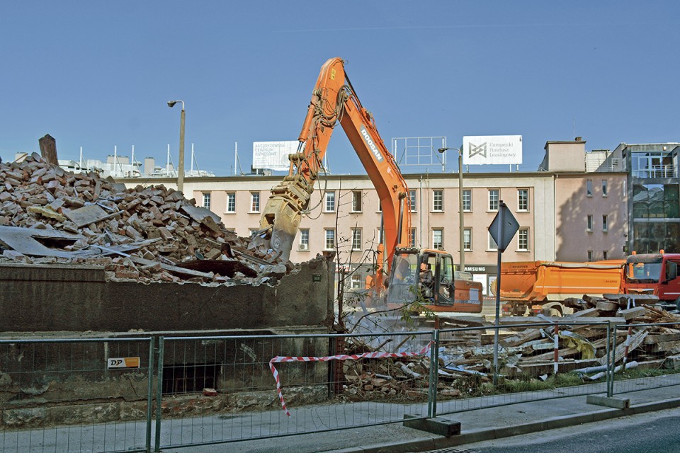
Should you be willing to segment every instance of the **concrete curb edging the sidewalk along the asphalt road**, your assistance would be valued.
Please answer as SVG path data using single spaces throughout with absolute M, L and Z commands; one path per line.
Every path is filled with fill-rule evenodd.
M 652 403 L 640 403 L 625 409 L 601 409 L 599 411 L 577 413 L 573 415 L 560 415 L 559 417 L 547 418 L 542 421 L 524 423 L 523 425 L 504 426 L 500 428 L 481 428 L 479 430 L 463 431 L 460 435 L 452 437 L 420 438 L 409 442 L 387 442 L 385 444 L 367 445 L 365 447 L 352 447 L 331 450 L 326 453 L 406 453 L 424 452 L 432 449 L 456 447 L 458 445 L 472 444 L 484 440 L 502 439 L 516 435 L 530 434 L 545 430 L 555 430 L 568 426 L 594 423 L 612 418 L 637 415 L 647 412 L 664 411 L 680 407 L 680 398 L 672 398 Z

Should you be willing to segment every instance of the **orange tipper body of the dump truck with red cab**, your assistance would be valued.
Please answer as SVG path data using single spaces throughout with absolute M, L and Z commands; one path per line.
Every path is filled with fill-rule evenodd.
M 520 316 L 526 309 L 540 313 L 543 309 L 562 312 L 562 301 L 584 294 L 620 294 L 625 260 L 567 263 L 526 261 L 501 264 L 503 311 Z

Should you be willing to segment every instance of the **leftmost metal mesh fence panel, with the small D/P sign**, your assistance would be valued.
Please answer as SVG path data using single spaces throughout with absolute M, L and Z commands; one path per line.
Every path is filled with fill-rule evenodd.
M 153 338 L 0 340 L 0 451 L 149 451 L 153 360 Z

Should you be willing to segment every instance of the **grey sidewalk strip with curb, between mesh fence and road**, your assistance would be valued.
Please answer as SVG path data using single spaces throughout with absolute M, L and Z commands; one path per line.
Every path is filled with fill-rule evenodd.
M 653 378 L 652 378 L 653 379 Z M 604 395 L 601 395 L 604 396 Z M 488 397 L 494 398 L 494 397 Z M 290 435 L 266 440 L 230 442 L 202 447 L 164 449 L 164 452 L 201 453 L 405 453 L 455 447 L 482 440 L 499 439 L 591 423 L 609 418 L 680 407 L 680 385 L 615 395 L 630 400 L 625 409 L 587 403 L 587 396 L 568 396 L 543 401 L 475 409 L 440 415 L 461 424 L 460 435 L 444 437 L 406 428 L 402 423 L 368 428 Z

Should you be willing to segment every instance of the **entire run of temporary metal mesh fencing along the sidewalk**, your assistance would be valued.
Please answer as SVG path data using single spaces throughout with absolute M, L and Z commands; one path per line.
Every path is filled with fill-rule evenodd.
M 679 385 L 678 327 L 0 340 L 0 450 L 159 452 Z

